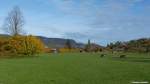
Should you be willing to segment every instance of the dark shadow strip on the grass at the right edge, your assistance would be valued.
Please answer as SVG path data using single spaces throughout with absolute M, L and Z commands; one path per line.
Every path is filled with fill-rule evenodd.
M 113 57 L 113 59 L 117 61 L 150 63 L 150 58 L 148 57 L 147 58 L 146 57 L 126 57 L 126 58 Z

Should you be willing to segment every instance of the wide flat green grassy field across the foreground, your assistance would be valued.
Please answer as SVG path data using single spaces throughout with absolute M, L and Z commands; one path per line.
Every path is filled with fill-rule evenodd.
M 150 82 L 150 54 L 43 54 L 0 59 L 0 84 L 131 84 Z

